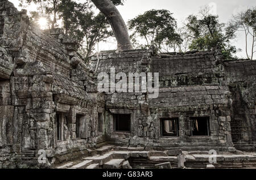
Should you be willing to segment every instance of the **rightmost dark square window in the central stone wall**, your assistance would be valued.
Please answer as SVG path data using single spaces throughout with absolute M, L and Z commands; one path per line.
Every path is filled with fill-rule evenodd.
M 193 117 L 190 120 L 192 136 L 209 136 L 209 117 Z

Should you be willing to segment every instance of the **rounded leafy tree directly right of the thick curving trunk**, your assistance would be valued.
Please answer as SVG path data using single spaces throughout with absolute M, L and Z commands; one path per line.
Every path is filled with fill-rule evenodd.
M 158 52 L 162 52 L 168 49 L 164 46 L 176 49 L 175 47 L 182 42 L 176 32 L 176 20 L 168 10 L 146 11 L 143 15 L 129 20 L 128 25 L 134 32 L 132 37 L 139 36 L 146 41 L 142 48 L 154 45 Z

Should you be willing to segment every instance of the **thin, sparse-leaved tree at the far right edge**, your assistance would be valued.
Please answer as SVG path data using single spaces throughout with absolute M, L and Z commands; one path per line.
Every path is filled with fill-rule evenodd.
M 245 32 L 246 56 L 248 59 L 253 59 L 253 55 L 256 53 L 256 7 L 234 15 L 229 27 L 235 29 L 235 31 Z M 251 46 L 251 53 L 249 53 L 249 46 Z

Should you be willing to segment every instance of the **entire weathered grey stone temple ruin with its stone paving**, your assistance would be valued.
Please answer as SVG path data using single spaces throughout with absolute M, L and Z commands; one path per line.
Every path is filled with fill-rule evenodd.
M 1 0 L 0 168 L 204 167 L 211 149 L 215 166 L 256 165 L 256 61 L 223 61 L 216 48 L 108 51 L 85 63 L 78 46 Z M 159 96 L 98 92 L 111 67 L 159 72 Z

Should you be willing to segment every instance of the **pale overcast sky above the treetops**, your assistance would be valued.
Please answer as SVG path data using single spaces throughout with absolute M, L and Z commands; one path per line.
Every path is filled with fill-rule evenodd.
M 18 0 L 9 0 L 14 3 L 15 7 L 20 10 Z M 84 0 L 77 0 L 83 2 Z M 209 5 L 212 14 L 217 14 L 220 22 L 228 23 L 234 14 L 250 7 L 256 6 L 255 0 L 126 0 L 123 6 L 117 6 L 125 22 L 135 18 L 139 14 L 151 9 L 166 9 L 174 14 L 178 27 L 183 25 L 185 18 L 190 14 L 197 14 L 201 7 Z M 27 10 L 35 10 L 35 6 L 28 7 Z M 237 48 L 241 48 L 242 52 L 237 53 L 240 58 L 245 58 L 245 35 L 240 32 L 237 39 L 232 41 Z M 100 43 L 99 50 L 115 49 L 114 39 L 107 43 Z M 250 48 L 250 47 L 249 47 Z

